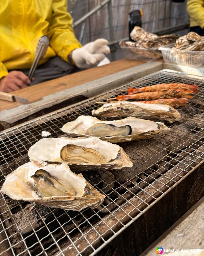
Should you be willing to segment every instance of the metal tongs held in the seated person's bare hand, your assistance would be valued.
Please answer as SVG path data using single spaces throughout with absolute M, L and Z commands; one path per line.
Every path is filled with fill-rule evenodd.
M 40 38 L 37 44 L 36 52 L 35 52 L 35 59 L 33 61 L 33 65 L 30 69 L 28 78 L 31 80 L 35 70 L 37 68 L 37 65 L 39 61 L 43 58 L 43 56 L 46 54 L 48 46 L 49 46 L 49 37 L 47 35 L 44 35 L 43 37 Z

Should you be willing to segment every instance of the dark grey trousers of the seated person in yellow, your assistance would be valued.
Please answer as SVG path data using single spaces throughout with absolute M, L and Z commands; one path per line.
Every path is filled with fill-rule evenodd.
M 46 82 L 51 79 L 55 79 L 61 76 L 68 75 L 73 72 L 77 72 L 80 69 L 70 65 L 66 61 L 62 60 L 60 57 L 55 56 L 50 58 L 46 63 L 37 67 L 35 73 L 33 75 L 34 81 L 31 83 L 32 85 Z M 11 70 L 10 70 L 11 71 Z M 22 71 L 24 74 L 28 76 L 30 69 L 18 70 Z

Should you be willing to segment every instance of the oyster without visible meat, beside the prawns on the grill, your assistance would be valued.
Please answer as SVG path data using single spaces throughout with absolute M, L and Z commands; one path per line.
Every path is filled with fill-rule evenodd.
M 100 117 L 134 116 L 145 119 L 165 120 L 169 123 L 178 121 L 181 118 L 179 112 L 171 106 L 125 100 L 104 104 L 99 109 L 92 110 L 92 115 Z

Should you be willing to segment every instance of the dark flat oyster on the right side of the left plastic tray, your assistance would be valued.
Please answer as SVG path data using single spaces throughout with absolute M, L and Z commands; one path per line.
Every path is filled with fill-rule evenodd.
M 161 35 L 153 40 L 149 40 L 147 43 L 143 44 L 145 48 L 157 48 L 159 46 L 175 43 L 176 39 L 179 38 L 179 35 L 169 34 L 169 35 Z

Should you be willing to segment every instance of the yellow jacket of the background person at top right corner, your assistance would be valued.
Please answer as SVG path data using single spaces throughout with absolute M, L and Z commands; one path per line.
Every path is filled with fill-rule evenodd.
M 187 13 L 198 26 L 204 28 L 204 5 L 203 0 L 188 0 L 186 6 Z

